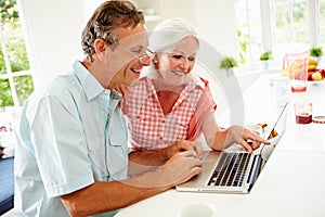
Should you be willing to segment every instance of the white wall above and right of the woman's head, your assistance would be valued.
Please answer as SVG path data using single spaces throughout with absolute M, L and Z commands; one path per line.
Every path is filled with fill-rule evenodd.
M 234 0 L 132 0 L 140 9 L 154 8 L 162 18 L 181 16 L 223 54 L 237 55 Z

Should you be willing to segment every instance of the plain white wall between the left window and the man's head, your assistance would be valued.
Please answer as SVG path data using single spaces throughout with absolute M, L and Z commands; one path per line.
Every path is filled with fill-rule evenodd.
M 80 0 L 20 0 L 27 30 L 27 46 L 35 87 L 69 71 L 82 56 L 80 35 L 84 9 Z

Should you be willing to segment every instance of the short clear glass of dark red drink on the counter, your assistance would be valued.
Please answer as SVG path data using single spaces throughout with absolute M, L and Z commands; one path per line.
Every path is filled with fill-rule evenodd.
M 312 123 L 312 103 L 296 102 L 295 103 L 296 123 L 307 125 Z

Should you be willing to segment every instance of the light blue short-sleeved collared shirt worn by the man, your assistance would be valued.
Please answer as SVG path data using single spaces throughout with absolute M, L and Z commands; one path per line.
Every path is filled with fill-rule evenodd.
M 68 216 L 60 195 L 94 181 L 127 178 L 121 95 L 104 89 L 80 62 L 73 68 L 44 91 L 35 91 L 23 108 L 15 153 L 16 216 Z

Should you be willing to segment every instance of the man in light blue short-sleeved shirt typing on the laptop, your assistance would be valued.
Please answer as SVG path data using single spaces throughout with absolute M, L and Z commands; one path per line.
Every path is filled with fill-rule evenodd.
M 200 171 L 200 146 L 190 141 L 130 153 L 134 163 L 128 162 L 115 89 L 136 80 L 150 64 L 147 46 L 143 14 L 130 2 L 107 1 L 94 12 L 82 31 L 87 59 L 32 93 L 23 108 L 16 216 L 113 216 Z M 135 175 L 129 169 L 129 179 L 128 166 L 136 168 Z

